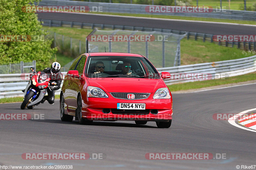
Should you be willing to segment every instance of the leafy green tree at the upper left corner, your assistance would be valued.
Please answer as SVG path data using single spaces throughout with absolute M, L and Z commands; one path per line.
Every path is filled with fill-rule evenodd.
M 47 33 L 41 29 L 37 14 L 22 11 L 23 6 L 33 3 L 34 0 L 0 0 L 1 64 L 36 60 L 37 70 L 42 70 L 48 67 L 52 54 L 57 51 L 51 48 L 52 40 L 42 39 Z M 24 42 L 6 41 L 7 35 L 25 35 L 28 38 Z M 41 41 L 28 41 L 29 37 L 36 40 L 39 36 Z

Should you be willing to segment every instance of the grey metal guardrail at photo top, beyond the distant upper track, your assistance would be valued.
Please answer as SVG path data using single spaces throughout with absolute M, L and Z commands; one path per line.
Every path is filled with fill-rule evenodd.
M 81 2 L 81 1 L 67 1 L 67 0 L 42 0 L 39 5 L 55 5 L 55 6 L 88 6 L 90 11 L 92 7 L 101 7 L 102 12 L 114 13 L 132 13 L 132 14 L 154 14 L 154 15 L 173 15 L 186 17 L 203 17 L 203 18 L 226 18 L 236 20 L 256 20 L 256 11 L 240 11 L 240 10 L 225 10 L 213 9 L 209 13 L 148 13 L 145 8 L 154 5 L 142 4 L 117 4 L 117 3 L 99 3 L 99 2 Z

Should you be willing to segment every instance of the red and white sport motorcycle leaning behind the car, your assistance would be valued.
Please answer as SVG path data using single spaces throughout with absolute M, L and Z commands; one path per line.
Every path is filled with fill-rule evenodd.
M 26 107 L 32 109 L 35 105 L 39 105 L 50 85 L 51 78 L 46 73 L 41 71 L 36 72 L 33 67 L 30 70 L 33 73 L 30 76 L 26 89 L 22 90 L 24 92 L 24 100 L 20 106 L 21 109 L 25 109 Z

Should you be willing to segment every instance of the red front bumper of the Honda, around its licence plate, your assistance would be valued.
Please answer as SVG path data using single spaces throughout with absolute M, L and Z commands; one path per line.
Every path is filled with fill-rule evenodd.
M 153 99 L 150 94 L 148 99 L 122 100 L 112 98 L 87 98 L 87 105 L 83 105 L 82 117 L 88 120 L 98 121 L 168 121 L 172 120 L 172 99 Z M 117 103 L 145 103 L 148 113 L 116 113 Z M 103 113 L 103 109 L 110 109 L 110 113 Z M 112 109 L 115 112 L 112 113 Z M 157 114 L 151 114 L 151 110 L 157 110 Z M 120 109 L 121 110 L 121 109 Z

